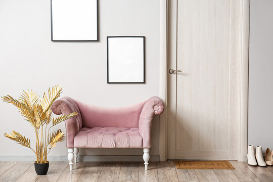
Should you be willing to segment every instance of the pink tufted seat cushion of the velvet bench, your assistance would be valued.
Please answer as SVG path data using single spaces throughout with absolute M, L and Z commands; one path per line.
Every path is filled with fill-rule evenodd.
M 77 148 L 143 148 L 139 128 L 83 127 L 74 138 Z

